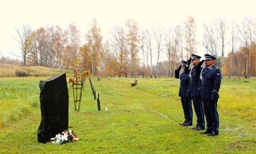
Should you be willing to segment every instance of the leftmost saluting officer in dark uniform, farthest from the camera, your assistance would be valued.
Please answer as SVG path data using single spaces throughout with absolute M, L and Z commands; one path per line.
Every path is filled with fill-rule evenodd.
M 189 86 L 189 64 L 190 60 L 185 61 L 182 60 L 181 66 L 179 66 L 175 70 L 175 77 L 179 78 L 180 87 L 178 95 L 181 97 L 181 102 L 183 106 L 183 113 L 185 121 L 180 123 L 183 126 L 191 126 L 192 125 L 192 108 L 191 108 L 191 101 L 187 96 L 188 93 L 188 86 Z M 181 74 L 179 74 L 180 70 L 183 70 Z

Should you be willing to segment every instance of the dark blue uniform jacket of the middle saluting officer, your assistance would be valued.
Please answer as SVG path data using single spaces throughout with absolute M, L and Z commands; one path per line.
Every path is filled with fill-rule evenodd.
M 197 97 L 200 96 L 199 90 L 201 89 L 201 66 L 194 66 L 189 72 L 189 88 L 188 96 Z

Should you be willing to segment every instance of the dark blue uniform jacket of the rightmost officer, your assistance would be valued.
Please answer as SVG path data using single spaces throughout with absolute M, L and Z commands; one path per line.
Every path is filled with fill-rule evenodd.
M 201 71 L 201 98 L 218 100 L 218 90 L 221 83 L 221 73 L 216 66 L 204 67 Z

